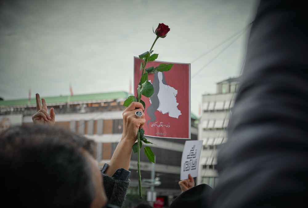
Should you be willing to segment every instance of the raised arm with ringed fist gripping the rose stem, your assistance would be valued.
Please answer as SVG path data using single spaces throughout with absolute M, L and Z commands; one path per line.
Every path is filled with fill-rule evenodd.
M 122 207 L 127 189 L 129 187 L 128 171 L 132 145 L 137 140 L 137 131 L 145 123 L 144 114 L 137 118 L 136 111 L 143 111 L 144 107 L 139 102 L 132 102 L 123 112 L 123 134 L 115 148 L 109 165 L 105 164 L 103 173 L 103 183 L 109 203 Z

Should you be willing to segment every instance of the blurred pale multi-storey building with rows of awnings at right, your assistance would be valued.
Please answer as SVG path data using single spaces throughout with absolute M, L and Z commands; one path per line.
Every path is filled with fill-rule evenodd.
M 198 125 L 198 140 L 203 140 L 197 184 L 215 187 L 218 182 L 216 170 L 217 153 L 227 141 L 226 128 L 233 107 L 239 78 L 229 78 L 217 83 L 216 94 L 202 95 L 202 113 Z

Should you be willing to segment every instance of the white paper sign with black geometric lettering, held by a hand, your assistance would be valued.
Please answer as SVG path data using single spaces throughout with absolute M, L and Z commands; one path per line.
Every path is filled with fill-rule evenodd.
M 182 153 L 180 180 L 188 179 L 188 174 L 197 177 L 202 143 L 202 140 L 185 141 Z

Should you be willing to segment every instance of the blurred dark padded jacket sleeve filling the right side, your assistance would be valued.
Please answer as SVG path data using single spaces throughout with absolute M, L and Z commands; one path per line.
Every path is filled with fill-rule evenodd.
M 212 207 L 307 206 L 307 8 L 297 0 L 259 3 Z

